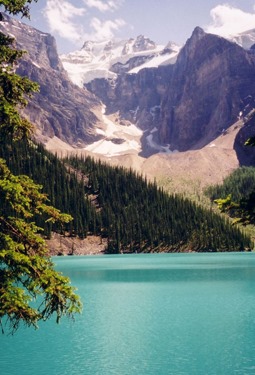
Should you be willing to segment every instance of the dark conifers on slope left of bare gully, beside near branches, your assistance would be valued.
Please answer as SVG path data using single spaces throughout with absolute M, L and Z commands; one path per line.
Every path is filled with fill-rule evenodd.
M 27 174 L 36 183 L 42 184 L 50 203 L 72 215 L 73 220 L 64 225 L 46 222 L 43 215 L 38 216 L 37 225 L 44 229 L 46 237 L 50 238 L 52 231 L 81 238 L 96 232 L 98 218 L 85 195 L 82 176 L 79 181 L 75 173 L 68 171 L 56 156 L 31 141 L 13 142 L 9 139 L 8 143 L 1 144 L 0 157 L 6 159 L 15 175 Z

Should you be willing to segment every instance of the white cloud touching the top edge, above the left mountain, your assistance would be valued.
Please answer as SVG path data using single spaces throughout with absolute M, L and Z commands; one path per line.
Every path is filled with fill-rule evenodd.
M 81 39 L 82 32 L 74 19 L 83 16 L 85 12 L 85 8 L 77 8 L 65 0 L 47 0 L 43 14 L 50 32 L 75 42 Z

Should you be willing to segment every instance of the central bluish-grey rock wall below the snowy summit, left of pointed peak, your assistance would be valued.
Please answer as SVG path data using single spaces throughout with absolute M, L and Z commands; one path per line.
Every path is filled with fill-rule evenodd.
M 115 80 L 95 79 L 86 88 L 106 104 L 107 113 L 136 123 L 142 130 L 158 126 L 160 103 L 166 93 L 172 65 L 120 74 Z

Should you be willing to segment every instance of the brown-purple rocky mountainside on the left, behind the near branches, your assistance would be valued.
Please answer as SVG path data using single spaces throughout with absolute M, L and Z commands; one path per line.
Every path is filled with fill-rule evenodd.
M 94 113 L 101 104 L 85 89 L 74 85 L 58 57 L 54 38 L 7 15 L 2 15 L 0 31 L 15 38 L 16 46 L 26 50 L 17 73 L 40 85 L 25 109 L 25 115 L 36 126 L 36 137 L 46 142 L 57 136 L 75 147 L 96 139 Z

